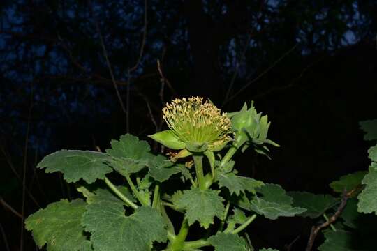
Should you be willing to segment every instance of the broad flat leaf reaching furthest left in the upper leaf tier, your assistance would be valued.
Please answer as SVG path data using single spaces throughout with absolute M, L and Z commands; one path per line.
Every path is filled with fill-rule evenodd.
M 88 184 L 96 179 L 104 179 L 105 174 L 112 172 L 112 169 L 104 162 L 108 155 L 94 151 L 71 151 L 61 150 L 47 155 L 39 164 L 38 168 L 45 168 L 45 172 L 62 172 L 64 179 L 68 182 L 76 182 L 82 178 Z

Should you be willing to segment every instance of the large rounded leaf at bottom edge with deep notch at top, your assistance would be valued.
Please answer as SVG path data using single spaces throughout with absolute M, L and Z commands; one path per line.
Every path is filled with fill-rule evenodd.
M 99 190 L 87 206 L 82 223 L 91 233 L 94 250 L 151 250 L 154 241 L 166 241 L 165 222 L 154 208 L 142 206 L 126 216 L 124 203 Z

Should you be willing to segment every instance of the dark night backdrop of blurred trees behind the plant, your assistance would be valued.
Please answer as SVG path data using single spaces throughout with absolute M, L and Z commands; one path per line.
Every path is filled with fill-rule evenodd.
M 208 97 L 226 112 L 254 100 L 269 115 L 281 148 L 272 160 L 238 155 L 244 175 L 325 193 L 367 169 L 358 121 L 377 118 L 374 0 L 3 0 L 0 8 L 1 250 L 36 250 L 22 215 L 77 196 L 59 174 L 36 170 L 44 155 L 106 149 L 126 132 L 147 139 L 165 128 L 161 109 L 175 97 Z M 249 234 L 257 248 L 289 250 L 297 238 L 292 250 L 302 250 L 312 224 L 258 218 Z

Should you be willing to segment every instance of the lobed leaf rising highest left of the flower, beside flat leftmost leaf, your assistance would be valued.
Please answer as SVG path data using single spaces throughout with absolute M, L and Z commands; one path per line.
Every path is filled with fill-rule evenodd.
M 106 153 L 113 158 L 108 163 L 123 176 L 139 172 L 154 159 L 154 155 L 149 153 L 149 144 L 133 135 L 122 135 L 110 144 L 112 149 L 106 149 Z

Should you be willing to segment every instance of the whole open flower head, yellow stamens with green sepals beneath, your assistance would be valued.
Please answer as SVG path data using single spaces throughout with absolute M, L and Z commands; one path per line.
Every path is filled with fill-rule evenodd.
M 230 140 L 232 125 L 227 114 L 201 97 L 177 98 L 166 104 L 163 119 L 170 130 L 150 137 L 171 149 L 219 151 Z

